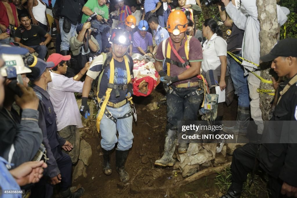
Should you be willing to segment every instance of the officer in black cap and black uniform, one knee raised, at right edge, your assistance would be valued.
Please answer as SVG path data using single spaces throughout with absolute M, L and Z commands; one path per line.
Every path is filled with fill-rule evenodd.
M 221 198 L 239 198 L 242 184 L 250 170 L 254 170 L 255 161 L 269 175 L 271 197 L 297 197 L 297 39 L 287 38 L 274 46 L 269 54 L 260 57 L 262 61 L 272 61 L 271 68 L 279 77 L 287 81 L 278 84 L 274 100 L 277 102 L 273 115 L 265 123 L 262 144 L 246 144 L 233 153 L 231 164 L 232 184 Z M 285 123 L 283 123 L 285 122 Z M 295 139 L 294 139 L 295 137 Z M 256 158 L 256 160 L 255 160 Z

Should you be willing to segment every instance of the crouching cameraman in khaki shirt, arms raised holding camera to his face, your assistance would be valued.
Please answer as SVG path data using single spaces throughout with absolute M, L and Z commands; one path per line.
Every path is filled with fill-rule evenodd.
M 86 22 L 84 24 L 79 24 L 76 28 L 76 33 L 74 37 L 70 39 L 70 49 L 72 52 L 71 57 L 71 67 L 69 68 L 69 72 L 73 77 L 75 76 L 80 69 L 84 67 L 89 57 L 93 57 L 94 53 L 99 51 L 99 44 L 97 40 L 91 35 L 91 23 Z M 85 51 L 83 44 L 87 39 L 87 31 L 89 31 L 89 47 L 88 50 Z

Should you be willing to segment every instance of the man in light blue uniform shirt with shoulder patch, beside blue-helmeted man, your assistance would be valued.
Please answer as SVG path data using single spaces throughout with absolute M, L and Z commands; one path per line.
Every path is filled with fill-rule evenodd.
M 168 31 L 159 25 L 159 20 L 156 16 L 149 18 L 149 27 L 154 31 L 156 46 L 153 50 L 153 56 L 156 55 L 159 44 L 169 37 Z

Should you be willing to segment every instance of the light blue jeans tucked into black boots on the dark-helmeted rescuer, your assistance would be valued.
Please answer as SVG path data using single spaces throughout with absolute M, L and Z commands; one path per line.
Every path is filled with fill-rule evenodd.
M 119 108 L 106 107 L 108 111 L 115 118 L 121 118 L 126 113 L 131 111 L 130 104 L 127 103 Z M 99 110 L 100 111 L 100 110 Z M 98 116 L 98 114 L 97 114 Z M 124 119 L 118 119 L 114 123 L 111 119 L 103 115 L 100 122 L 101 131 L 101 147 L 107 151 L 114 148 L 115 144 L 118 142 L 117 150 L 126 151 L 132 147 L 133 134 L 132 134 L 132 121 L 133 117 L 130 116 Z M 116 137 L 116 131 L 119 133 L 119 137 Z

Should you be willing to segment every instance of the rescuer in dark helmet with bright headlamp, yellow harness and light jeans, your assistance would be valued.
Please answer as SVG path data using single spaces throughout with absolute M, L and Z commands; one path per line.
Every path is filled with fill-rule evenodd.
M 91 84 L 99 75 L 97 99 L 100 109 L 97 115 L 97 130 L 101 131 L 102 136 L 103 172 L 105 175 L 112 173 L 110 155 L 115 144 L 118 143 L 116 170 L 119 172 L 120 180 L 126 183 L 129 180 L 129 174 L 125 171 L 124 165 L 134 138 L 132 109 L 129 104 L 132 101 L 130 95 L 133 93 L 131 81 L 133 60 L 126 54 L 131 45 L 131 36 L 127 30 L 115 28 L 111 32 L 110 42 L 112 52 L 97 56 L 87 72 L 80 113 L 83 116 L 86 113 L 89 115 L 87 99 Z

